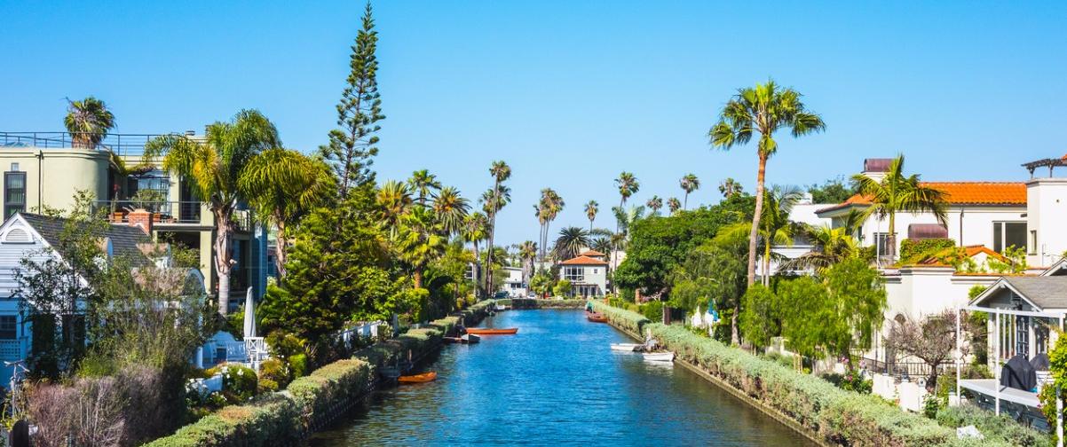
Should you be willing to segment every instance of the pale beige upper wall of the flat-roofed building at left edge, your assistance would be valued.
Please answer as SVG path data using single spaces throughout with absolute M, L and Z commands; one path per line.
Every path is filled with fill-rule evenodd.
M 26 173 L 26 210 L 41 207 L 69 210 L 74 194 L 87 190 L 97 199 L 109 195 L 109 154 L 100 150 L 75 148 L 13 148 L 0 149 L 0 170 L 11 171 L 18 163 L 18 171 Z

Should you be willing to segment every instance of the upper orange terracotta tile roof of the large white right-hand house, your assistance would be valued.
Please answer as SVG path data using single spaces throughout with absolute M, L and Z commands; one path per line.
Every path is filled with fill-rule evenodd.
M 944 192 L 950 205 L 1026 205 L 1026 183 L 1021 181 L 923 181 L 922 185 Z M 815 212 L 870 204 L 870 198 L 856 194 Z

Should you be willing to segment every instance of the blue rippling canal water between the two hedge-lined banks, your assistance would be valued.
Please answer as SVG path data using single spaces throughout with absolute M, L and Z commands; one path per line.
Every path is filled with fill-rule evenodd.
M 432 383 L 384 389 L 312 447 L 382 445 L 811 445 L 681 366 L 610 351 L 632 342 L 580 310 L 508 310 L 519 334 L 452 345 Z

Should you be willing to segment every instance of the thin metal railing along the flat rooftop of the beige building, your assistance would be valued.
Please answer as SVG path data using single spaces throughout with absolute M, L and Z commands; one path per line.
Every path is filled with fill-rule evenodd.
M 185 134 L 187 133 L 169 133 Z M 45 149 L 85 148 L 107 150 L 118 156 L 140 156 L 144 146 L 162 133 L 107 133 L 97 144 L 90 143 L 87 132 L 0 132 L 0 149 L 5 147 L 35 147 Z

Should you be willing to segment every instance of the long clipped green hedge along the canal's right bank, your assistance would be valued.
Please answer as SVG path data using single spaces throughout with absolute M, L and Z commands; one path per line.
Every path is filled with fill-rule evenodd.
M 773 361 L 760 358 L 680 325 L 651 322 L 640 314 L 593 306 L 608 319 L 637 334 L 651 331 L 679 358 L 699 366 L 752 399 L 778 410 L 831 444 L 850 446 L 997 446 L 1013 445 L 1014 437 L 985 431 L 986 438 L 957 440 L 952 428 L 907 413 L 870 395 L 840 389 L 810 374 L 802 374 Z M 1010 442 L 1009 442 L 1009 441 Z

